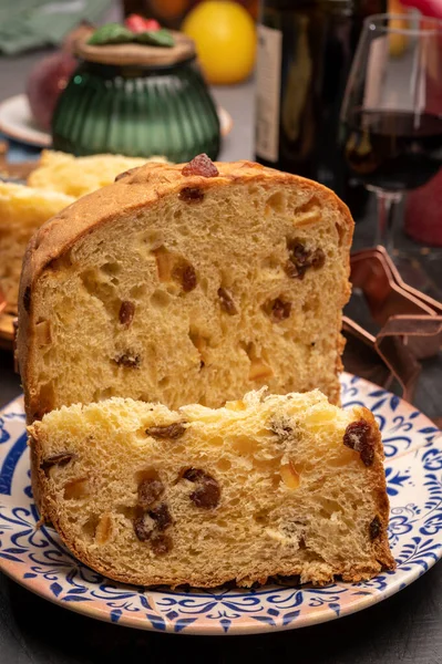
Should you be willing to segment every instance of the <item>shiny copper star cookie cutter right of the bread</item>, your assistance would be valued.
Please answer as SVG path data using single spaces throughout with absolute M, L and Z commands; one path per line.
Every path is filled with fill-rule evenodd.
M 351 256 L 350 280 L 364 295 L 374 336 L 343 318 L 345 366 L 351 373 L 389 388 L 395 378 L 403 398 L 413 401 L 421 372 L 419 360 L 438 354 L 442 343 L 442 304 L 404 283 L 383 247 Z

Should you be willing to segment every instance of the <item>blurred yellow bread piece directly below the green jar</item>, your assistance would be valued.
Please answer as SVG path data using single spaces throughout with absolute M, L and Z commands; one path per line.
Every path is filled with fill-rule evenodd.
M 163 162 L 164 157 L 124 157 L 123 155 L 73 155 L 45 149 L 39 166 L 31 173 L 28 184 L 41 189 L 62 191 L 75 198 L 111 185 L 119 173 L 143 166 L 146 162 Z

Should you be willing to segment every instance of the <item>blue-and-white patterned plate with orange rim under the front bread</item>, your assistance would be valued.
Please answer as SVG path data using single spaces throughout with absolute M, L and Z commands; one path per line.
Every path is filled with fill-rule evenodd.
M 22 400 L 0 413 L 0 569 L 29 590 L 92 618 L 163 632 L 245 634 L 312 625 L 402 590 L 442 557 L 442 439 L 413 406 L 362 378 L 342 376 L 346 406 L 370 408 L 386 447 L 394 572 L 364 583 L 254 590 L 142 589 L 93 572 L 52 528 L 35 529 Z

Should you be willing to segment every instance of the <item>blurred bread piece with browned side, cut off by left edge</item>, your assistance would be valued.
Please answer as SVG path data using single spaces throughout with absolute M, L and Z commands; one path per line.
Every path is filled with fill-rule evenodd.
M 71 196 L 0 181 L 0 288 L 17 312 L 20 272 L 33 232 L 73 203 Z

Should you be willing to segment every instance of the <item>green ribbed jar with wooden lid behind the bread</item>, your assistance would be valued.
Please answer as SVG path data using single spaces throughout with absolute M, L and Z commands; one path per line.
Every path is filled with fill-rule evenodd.
M 52 121 L 54 149 L 74 155 L 164 155 L 188 162 L 219 152 L 219 120 L 199 73 L 194 44 L 173 49 L 76 44 L 81 62 Z M 176 37 L 177 35 L 177 37 Z

